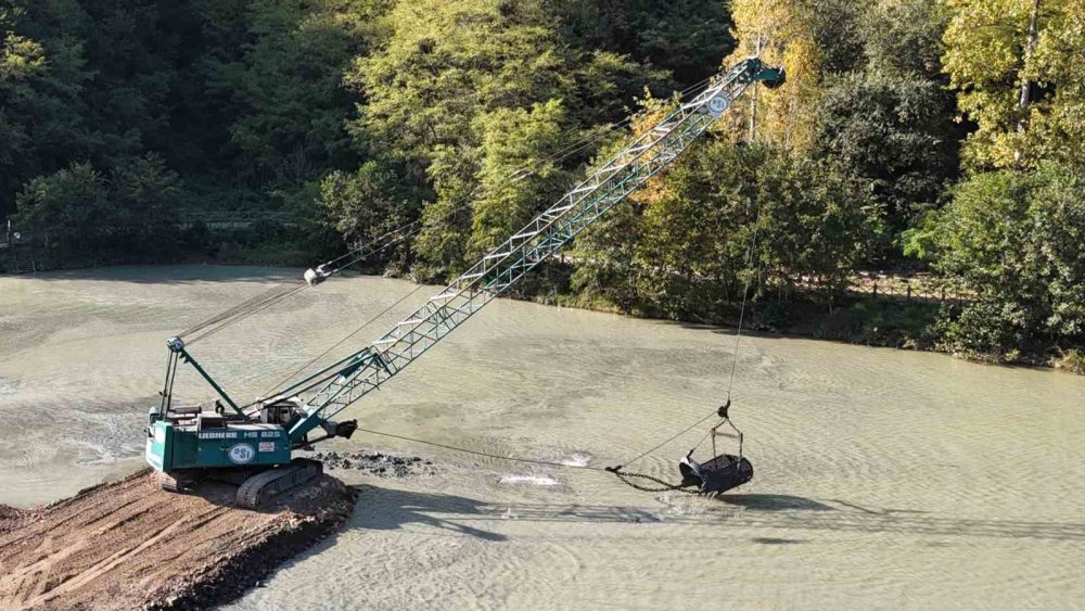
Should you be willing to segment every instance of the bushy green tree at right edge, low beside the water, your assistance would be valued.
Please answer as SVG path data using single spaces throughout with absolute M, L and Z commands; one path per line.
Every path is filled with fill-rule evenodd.
M 993 360 L 1085 345 L 1085 181 L 1042 163 L 980 174 L 942 215 L 940 269 L 975 295 L 942 323 L 944 346 Z

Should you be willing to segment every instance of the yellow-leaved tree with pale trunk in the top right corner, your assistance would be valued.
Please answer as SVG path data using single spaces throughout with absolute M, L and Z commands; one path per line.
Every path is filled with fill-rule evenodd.
M 973 169 L 1085 160 L 1085 2 L 945 0 L 943 62 L 961 113 Z

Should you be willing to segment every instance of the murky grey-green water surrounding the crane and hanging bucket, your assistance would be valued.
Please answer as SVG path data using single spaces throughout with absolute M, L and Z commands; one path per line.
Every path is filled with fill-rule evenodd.
M 128 267 L 0 278 L 0 504 L 48 504 L 140 469 L 165 339 L 286 273 L 297 271 Z M 234 396 L 251 398 L 411 290 L 379 278 L 328 282 L 192 352 Z M 374 339 L 429 293 L 358 338 Z M 346 415 L 367 429 L 485 453 L 608 466 L 718 405 L 732 349 L 726 330 L 499 301 Z M 209 396 L 190 371 L 177 392 Z M 1085 379 L 751 338 L 733 396 L 756 475 L 718 500 L 361 432 L 326 445 L 340 462 L 329 472 L 358 492 L 350 519 L 233 606 L 1085 600 Z M 637 469 L 673 480 L 674 462 L 703 433 Z M 433 464 L 388 460 L 380 471 L 376 453 Z M 704 446 L 699 456 L 707 457 Z

